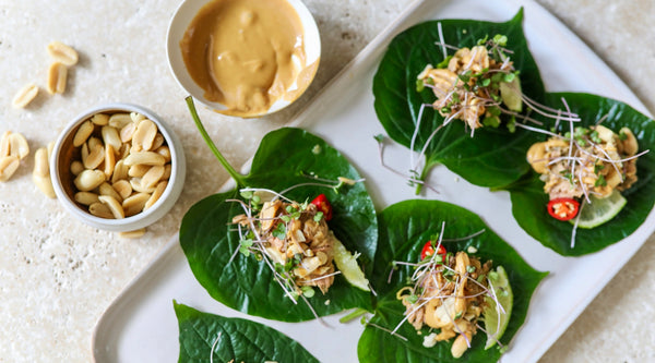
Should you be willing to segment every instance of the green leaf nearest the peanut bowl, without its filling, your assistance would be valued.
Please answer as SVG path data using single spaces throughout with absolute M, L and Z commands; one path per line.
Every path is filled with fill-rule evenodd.
M 308 176 L 336 180 L 359 180 L 348 160 L 323 140 L 303 130 L 285 128 L 272 131 L 262 140 L 248 176 L 237 176 L 239 187 L 263 187 L 282 192 L 289 186 L 317 181 Z M 242 183 L 242 184 L 241 184 Z M 333 207 L 330 229 L 358 261 L 367 276 L 378 240 L 376 210 L 362 182 L 331 187 L 306 185 L 285 196 L 302 203 L 325 194 Z M 193 205 L 182 219 L 180 244 L 198 281 L 217 301 L 247 314 L 284 322 L 314 318 L 302 299 L 297 304 L 275 282 L 272 269 L 253 255 L 233 254 L 240 246 L 239 234 L 231 225 L 241 206 L 227 199 L 239 198 L 237 189 L 209 196 Z M 371 295 L 350 286 L 337 275 L 326 294 L 320 291 L 308 299 L 319 316 L 350 307 L 372 310 Z

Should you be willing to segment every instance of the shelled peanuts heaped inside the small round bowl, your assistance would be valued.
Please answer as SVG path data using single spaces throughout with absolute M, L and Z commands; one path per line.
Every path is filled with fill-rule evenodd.
M 171 155 L 157 125 L 141 113 L 96 113 L 73 136 L 74 199 L 100 218 L 147 210 L 162 196 Z

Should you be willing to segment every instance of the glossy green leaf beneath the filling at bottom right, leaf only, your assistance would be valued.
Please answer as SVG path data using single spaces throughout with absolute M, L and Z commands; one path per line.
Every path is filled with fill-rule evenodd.
M 477 252 L 472 255 L 483 262 L 491 259 L 493 266 L 503 266 L 508 273 L 514 294 L 512 315 L 508 328 L 500 339 L 507 346 L 523 324 L 529 299 L 547 275 L 528 266 L 521 256 L 475 214 L 444 202 L 406 201 L 394 204 L 378 215 L 380 244 L 376 253 L 376 265 L 371 283 L 378 293 L 376 314 L 367 325 L 358 344 L 359 361 L 366 362 L 493 362 L 500 356 L 497 347 L 484 350 L 486 335 L 479 330 L 472 340 L 472 348 L 460 359 L 451 355 L 451 341 L 441 341 L 432 348 L 425 348 L 422 339 L 428 334 L 417 335 L 408 323 L 397 330 L 407 341 L 383 330 L 393 330 L 405 317 L 405 307 L 396 299 L 396 292 L 406 286 L 414 271 L 410 266 L 397 265 L 389 279 L 392 262 L 418 262 L 424 244 L 432 235 L 439 234 L 445 222 L 443 239 L 461 239 L 485 230 L 476 237 L 445 241 L 448 252 Z M 377 326 L 373 326 L 377 325 Z M 383 328 L 383 329 L 381 329 Z

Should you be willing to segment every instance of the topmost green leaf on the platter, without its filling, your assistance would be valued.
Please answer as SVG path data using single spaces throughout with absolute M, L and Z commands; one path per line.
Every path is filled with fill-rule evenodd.
M 397 35 L 389 46 L 373 77 L 374 108 L 389 136 L 410 147 L 418 116 L 424 104 L 436 100 L 430 89 L 417 92 L 416 77 L 427 64 L 437 65 L 443 58 L 439 43 L 439 24 L 446 44 L 461 48 L 473 47 L 479 39 L 505 35 L 507 48 L 514 68 L 520 71 L 523 94 L 541 102 L 544 85 L 522 28 L 523 10 L 509 22 L 491 23 L 473 20 L 440 20 L 415 25 Z M 454 50 L 449 49 L 452 55 Z M 527 109 L 524 107 L 524 111 Z M 502 114 L 507 121 L 508 117 Z M 419 152 L 433 131 L 443 123 L 431 107 L 426 107 L 414 147 Z M 471 137 L 461 120 L 454 120 L 440 130 L 426 149 L 425 173 L 434 165 L 443 164 L 453 172 L 480 186 L 503 186 L 523 176 L 529 166 L 516 155 L 534 142 L 534 134 L 524 130 L 510 132 L 505 124 L 480 128 Z M 413 168 L 414 166 L 409 166 Z

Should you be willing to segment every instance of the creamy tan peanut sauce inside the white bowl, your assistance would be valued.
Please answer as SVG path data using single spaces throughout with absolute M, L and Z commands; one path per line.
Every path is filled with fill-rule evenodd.
M 306 65 L 300 17 L 286 0 L 213 0 L 180 47 L 204 97 L 227 107 L 217 112 L 249 117 L 307 88 L 318 61 Z

